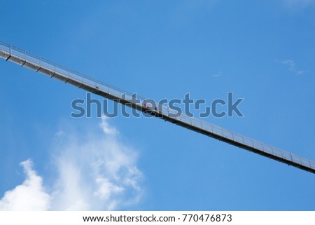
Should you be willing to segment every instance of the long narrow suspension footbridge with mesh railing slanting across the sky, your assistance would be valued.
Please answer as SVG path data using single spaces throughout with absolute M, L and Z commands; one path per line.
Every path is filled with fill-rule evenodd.
M 151 114 L 157 118 L 161 118 L 183 128 L 213 137 L 241 149 L 252 151 L 255 154 L 272 158 L 275 161 L 292 165 L 295 168 L 315 173 L 315 162 L 307 158 L 297 156 L 291 152 L 278 149 L 262 142 L 258 142 L 255 139 L 239 135 L 235 132 L 207 123 L 206 121 L 202 121 L 198 118 L 186 116 L 186 114 L 174 116 L 174 111 L 169 109 L 169 107 L 165 104 L 157 104 L 157 107 L 148 107 L 145 103 L 146 99 L 144 97 L 137 96 L 137 101 L 134 101 L 134 95 L 132 93 L 116 88 L 97 79 L 93 79 L 90 76 L 80 74 L 78 71 L 56 64 L 50 60 L 45 60 L 43 57 L 39 57 L 27 52 L 26 50 L 11 46 L 3 41 L 0 41 L 0 57 L 6 61 L 15 62 L 22 67 L 27 67 L 38 73 L 58 79 L 64 83 L 69 83 L 78 88 L 87 90 L 90 93 L 106 97 L 115 102 L 119 102 L 120 104 L 125 104 L 128 107 L 132 107 L 133 109 L 137 109 L 146 114 Z

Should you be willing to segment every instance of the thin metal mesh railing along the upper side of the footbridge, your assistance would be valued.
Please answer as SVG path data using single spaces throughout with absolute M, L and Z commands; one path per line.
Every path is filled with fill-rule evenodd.
M 8 59 L 9 56 L 14 57 L 15 59 L 21 60 L 21 62 L 27 62 L 29 64 L 32 64 L 34 68 L 38 69 L 43 68 L 48 71 L 51 71 L 52 73 L 60 74 L 64 76 L 66 79 L 72 79 L 73 81 L 84 83 L 85 85 L 90 86 L 91 88 L 102 90 L 105 93 L 109 93 L 110 95 L 117 97 L 117 99 L 121 99 L 123 95 L 125 95 L 125 99 L 130 100 L 130 102 L 132 102 L 132 93 L 129 93 L 120 88 L 116 88 L 115 86 L 111 86 L 108 83 L 104 83 L 97 79 L 93 79 L 90 76 L 86 76 L 85 74 L 81 74 L 78 71 L 74 71 L 72 69 L 69 69 L 68 67 L 56 64 L 55 62 L 51 62 L 50 60 L 45 60 L 43 57 L 39 57 L 37 55 L 28 53 L 26 50 L 22 50 L 15 46 L 11 46 L 10 44 L 4 43 L 2 41 L 0 41 L 0 56 L 5 59 Z M 137 103 L 139 107 L 143 107 L 143 102 L 146 99 L 138 95 L 137 99 L 140 100 L 140 102 Z M 158 104 L 157 109 L 160 111 L 161 114 L 163 114 L 163 116 L 176 114 L 176 111 L 169 109 L 169 107 L 166 105 Z M 180 121 L 181 123 L 186 123 L 187 125 L 199 128 L 201 130 L 206 130 L 207 132 L 210 132 L 214 135 L 224 137 L 225 139 L 230 139 L 233 142 L 244 144 L 245 146 L 257 149 L 269 155 L 276 156 L 278 158 L 283 158 L 286 161 L 291 161 L 293 163 L 304 165 L 307 168 L 315 170 L 314 161 L 311 161 L 307 158 L 303 158 L 302 156 L 291 154 L 290 152 L 283 151 L 273 146 L 269 146 L 262 142 L 258 142 L 255 139 L 239 135 L 235 132 L 218 127 L 214 124 L 201 121 L 200 119 L 197 118 L 186 116 L 185 114 L 181 114 L 176 117 L 172 116 L 172 118 L 175 119 L 176 121 Z

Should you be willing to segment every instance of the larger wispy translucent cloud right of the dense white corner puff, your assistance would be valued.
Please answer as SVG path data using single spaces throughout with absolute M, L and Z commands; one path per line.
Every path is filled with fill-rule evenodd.
M 141 195 L 137 153 L 118 141 L 116 128 L 102 118 L 102 137 L 66 137 L 57 144 L 59 179 L 52 207 L 57 210 L 116 210 Z

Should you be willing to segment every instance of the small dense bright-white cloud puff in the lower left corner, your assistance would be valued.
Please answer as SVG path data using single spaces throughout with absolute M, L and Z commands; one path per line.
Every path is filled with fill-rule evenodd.
M 15 189 L 6 191 L 0 200 L 0 210 L 49 210 L 50 196 L 43 188 L 42 178 L 32 169 L 30 160 L 20 163 L 26 179 Z

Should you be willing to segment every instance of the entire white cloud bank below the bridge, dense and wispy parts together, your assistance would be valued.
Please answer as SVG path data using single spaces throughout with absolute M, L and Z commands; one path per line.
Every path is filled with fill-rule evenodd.
M 30 160 L 22 162 L 25 182 L 4 194 L 0 210 L 123 210 L 139 203 L 143 175 L 137 151 L 120 141 L 107 118 L 100 128 L 101 134 L 89 129 L 57 132 L 55 178 L 45 180 Z M 51 185 L 44 188 L 42 180 Z

